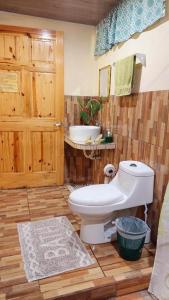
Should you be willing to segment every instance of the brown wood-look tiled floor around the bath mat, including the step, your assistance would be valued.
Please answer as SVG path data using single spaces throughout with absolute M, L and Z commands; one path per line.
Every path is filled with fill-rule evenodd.
M 152 245 L 144 248 L 137 262 L 120 258 L 115 244 L 97 245 L 95 249 L 88 245 L 91 256 L 96 258 L 95 265 L 27 281 L 16 224 L 66 215 L 79 230 L 79 218 L 72 215 L 67 205 L 68 194 L 66 187 L 0 191 L 0 300 L 151 299 L 146 291 L 135 292 L 148 287 L 154 257 Z

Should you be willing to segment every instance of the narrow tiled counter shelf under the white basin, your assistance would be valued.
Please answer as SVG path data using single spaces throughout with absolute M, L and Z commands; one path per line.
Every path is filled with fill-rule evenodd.
M 71 146 L 74 149 L 79 149 L 79 150 L 110 150 L 110 149 L 115 149 L 115 143 L 109 143 L 109 144 L 99 144 L 99 145 L 83 145 L 83 144 L 77 144 L 72 142 L 68 136 L 65 136 L 65 143 L 67 143 L 69 146 Z

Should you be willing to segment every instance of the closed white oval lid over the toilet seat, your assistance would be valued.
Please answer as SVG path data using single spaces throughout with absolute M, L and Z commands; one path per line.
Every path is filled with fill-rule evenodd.
M 72 192 L 70 201 L 79 205 L 110 205 L 123 199 L 123 194 L 112 184 L 95 184 Z

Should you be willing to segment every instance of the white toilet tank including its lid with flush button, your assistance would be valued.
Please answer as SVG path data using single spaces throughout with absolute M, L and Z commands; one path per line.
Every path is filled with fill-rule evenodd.
M 126 195 L 130 204 L 139 206 L 153 201 L 154 171 L 142 162 L 121 161 L 111 183 Z

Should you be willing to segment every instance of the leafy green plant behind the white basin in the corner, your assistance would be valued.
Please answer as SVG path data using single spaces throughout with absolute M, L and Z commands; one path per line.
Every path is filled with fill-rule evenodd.
M 102 99 L 87 98 L 82 100 L 78 98 L 78 103 L 83 125 L 96 125 L 98 112 L 102 109 Z

